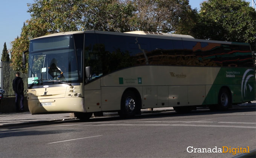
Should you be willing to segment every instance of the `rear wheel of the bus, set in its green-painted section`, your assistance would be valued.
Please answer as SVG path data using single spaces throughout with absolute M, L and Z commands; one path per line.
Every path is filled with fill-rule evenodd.
M 222 88 L 218 96 L 218 108 L 220 110 L 227 110 L 232 107 L 232 97 L 227 88 Z

